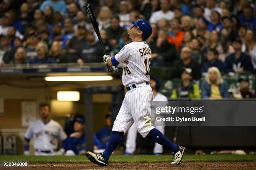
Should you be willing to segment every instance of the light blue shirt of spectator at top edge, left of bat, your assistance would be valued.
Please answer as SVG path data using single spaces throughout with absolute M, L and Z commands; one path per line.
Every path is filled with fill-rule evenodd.
M 64 0 L 46 0 L 41 4 L 40 10 L 44 11 L 48 5 L 53 7 L 54 11 L 61 12 L 61 15 L 66 15 L 66 2 Z

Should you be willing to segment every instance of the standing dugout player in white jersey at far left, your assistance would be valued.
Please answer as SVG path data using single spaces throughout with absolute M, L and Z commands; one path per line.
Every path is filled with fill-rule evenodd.
M 35 155 L 63 155 L 64 149 L 54 152 L 58 147 L 58 138 L 63 141 L 63 145 L 67 139 L 66 133 L 63 131 L 58 122 L 49 118 L 50 106 L 48 104 L 40 105 L 41 119 L 33 122 L 26 131 L 24 143 L 24 155 L 29 155 L 29 141 L 33 138 L 33 146 Z

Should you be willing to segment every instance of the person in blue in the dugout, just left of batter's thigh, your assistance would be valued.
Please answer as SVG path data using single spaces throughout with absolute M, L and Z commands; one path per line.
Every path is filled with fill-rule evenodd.
M 111 135 L 111 115 L 108 114 L 105 116 L 106 118 L 106 126 L 101 128 L 96 134 L 97 138 L 100 140 L 104 148 L 107 147 L 109 137 Z

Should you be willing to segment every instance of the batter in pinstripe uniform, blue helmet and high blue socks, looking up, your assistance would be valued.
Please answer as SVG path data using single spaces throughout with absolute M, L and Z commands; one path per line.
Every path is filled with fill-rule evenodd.
M 144 41 L 151 35 L 152 28 L 146 20 L 131 21 L 131 23 L 133 26 L 130 27 L 128 35 L 133 42 L 125 45 L 114 57 L 103 56 L 103 61 L 109 66 L 110 71 L 118 71 L 117 65 L 123 62 L 122 79 L 127 89 L 125 98 L 115 119 L 105 151 L 101 154 L 87 152 L 86 156 L 93 163 L 107 166 L 109 157 L 121 142 L 123 134 L 135 123 L 143 138 L 152 139 L 169 148 L 174 153 L 172 165 L 179 165 L 184 147 L 172 143 L 151 123 L 153 100 L 153 91 L 149 85 L 151 50 Z

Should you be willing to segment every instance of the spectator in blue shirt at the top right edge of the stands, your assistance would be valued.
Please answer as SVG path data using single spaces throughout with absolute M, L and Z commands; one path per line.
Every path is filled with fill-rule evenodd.
M 246 5 L 243 7 L 243 14 L 240 16 L 240 24 L 246 25 L 248 29 L 256 32 L 256 17 L 253 15 L 253 7 Z

